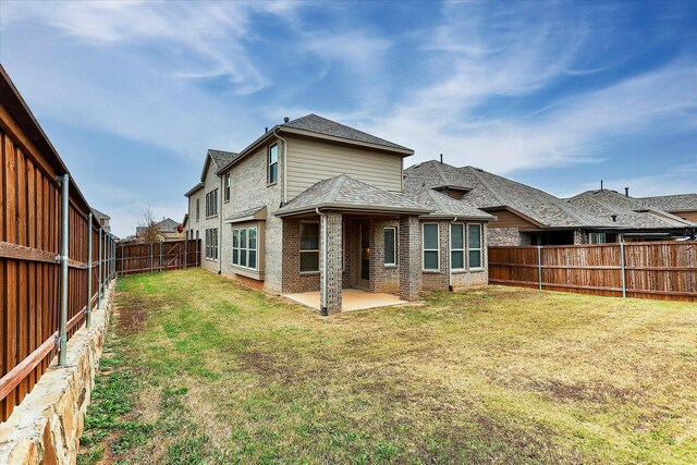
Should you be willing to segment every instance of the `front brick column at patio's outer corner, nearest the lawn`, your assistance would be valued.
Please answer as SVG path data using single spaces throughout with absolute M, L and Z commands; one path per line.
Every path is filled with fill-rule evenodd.
M 330 314 L 341 311 L 341 291 L 342 291 L 342 247 L 341 247 L 341 230 L 342 218 L 341 213 L 337 211 L 328 211 L 326 221 L 321 222 L 320 236 L 321 248 L 319 256 L 319 272 L 320 272 L 320 294 L 325 292 L 327 294 L 327 311 Z M 325 228 L 327 234 L 325 234 Z M 327 244 L 325 244 L 325 237 L 327 237 Z M 325 270 L 323 253 L 327 249 L 327 269 Z M 325 278 L 326 277 L 326 278 Z M 325 281 L 326 279 L 326 281 Z M 321 283 L 327 283 L 325 290 Z M 325 299 L 322 298 L 322 302 Z

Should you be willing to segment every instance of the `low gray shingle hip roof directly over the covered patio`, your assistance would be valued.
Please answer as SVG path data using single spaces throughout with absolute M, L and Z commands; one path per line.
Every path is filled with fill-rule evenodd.
M 429 208 L 402 193 L 387 192 L 346 174 L 320 181 L 281 207 L 276 215 L 284 216 L 315 208 L 404 211 L 427 213 Z

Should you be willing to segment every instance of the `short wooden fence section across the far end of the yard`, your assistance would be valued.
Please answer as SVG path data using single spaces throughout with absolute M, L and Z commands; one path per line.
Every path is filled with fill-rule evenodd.
M 200 266 L 200 240 L 119 244 L 117 273 L 134 274 Z

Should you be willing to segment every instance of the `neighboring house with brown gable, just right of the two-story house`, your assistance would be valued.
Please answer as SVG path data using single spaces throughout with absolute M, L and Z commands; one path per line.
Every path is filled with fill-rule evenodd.
M 427 161 L 404 170 L 406 188 L 430 187 L 497 218 L 488 245 L 585 244 L 590 234 L 614 234 L 601 220 L 551 194 L 474 167 Z M 609 230 L 608 230 L 609 229 Z

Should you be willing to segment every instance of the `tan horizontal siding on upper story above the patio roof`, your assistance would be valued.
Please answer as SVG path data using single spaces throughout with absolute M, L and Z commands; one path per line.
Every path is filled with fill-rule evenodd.
M 288 137 L 288 199 L 318 181 L 347 174 L 376 187 L 402 189 L 402 157 L 368 148 Z

